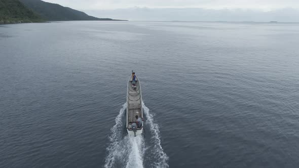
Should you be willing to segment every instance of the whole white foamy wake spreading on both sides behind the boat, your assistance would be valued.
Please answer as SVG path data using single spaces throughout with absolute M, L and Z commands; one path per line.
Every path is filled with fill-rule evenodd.
M 164 153 L 159 136 L 159 125 L 154 122 L 153 114 L 142 102 L 143 113 L 146 116 L 145 127 L 151 133 L 150 142 L 146 142 L 143 136 L 122 137 L 124 124 L 122 118 L 126 112 L 126 103 L 115 119 L 115 125 L 111 128 L 109 136 L 110 144 L 107 147 L 105 168 L 110 167 L 169 167 L 168 156 Z M 126 130 L 125 130 L 126 131 Z M 143 156 L 148 163 L 144 162 Z

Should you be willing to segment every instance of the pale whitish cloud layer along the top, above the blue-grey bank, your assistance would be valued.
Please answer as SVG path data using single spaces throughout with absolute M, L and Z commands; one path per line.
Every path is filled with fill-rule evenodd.
M 298 0 L 44 0 L 75 9 L 117 9 L 132 7 L 148 8 L 299 8 Z

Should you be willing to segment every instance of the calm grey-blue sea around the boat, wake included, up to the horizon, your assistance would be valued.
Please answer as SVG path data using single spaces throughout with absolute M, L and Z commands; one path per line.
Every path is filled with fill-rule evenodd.
M 2 25 L 0 167 L 297 167 L 298 41 L 291 23 Z

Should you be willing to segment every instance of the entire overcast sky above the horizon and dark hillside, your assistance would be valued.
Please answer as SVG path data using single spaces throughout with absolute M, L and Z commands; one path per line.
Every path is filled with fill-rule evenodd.
M 100 18 L 299 22 L 299 0 L 43 0 Z

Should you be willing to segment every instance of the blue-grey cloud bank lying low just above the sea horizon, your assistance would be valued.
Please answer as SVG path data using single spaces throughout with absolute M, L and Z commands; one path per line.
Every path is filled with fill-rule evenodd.
M 90 15 L 102 18 L 143 21 L 257 21 L 299 22 L 299 10 L 292 8 L 273 11 L 249 9 L 202 9 L 202 8 L 129 8 L 117 10 L 86 10 Z

